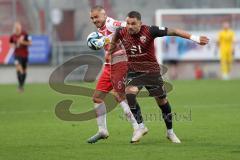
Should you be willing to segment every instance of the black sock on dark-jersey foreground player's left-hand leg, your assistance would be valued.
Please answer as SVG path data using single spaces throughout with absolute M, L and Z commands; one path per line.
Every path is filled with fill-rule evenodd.
M 128 105 L 138 124 L 143 122 L 142 113 L 135 94 L 126 94 Z

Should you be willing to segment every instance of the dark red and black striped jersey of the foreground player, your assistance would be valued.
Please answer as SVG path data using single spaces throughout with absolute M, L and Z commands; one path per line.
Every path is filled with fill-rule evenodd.
M 155 55 L 154 39 L 167 35 L 167 28 L 142 25 L 137 34 L 129 34 L 127 28 L 117 32 L 128 57 L 129 71 L 158 72 L 159 64 Z

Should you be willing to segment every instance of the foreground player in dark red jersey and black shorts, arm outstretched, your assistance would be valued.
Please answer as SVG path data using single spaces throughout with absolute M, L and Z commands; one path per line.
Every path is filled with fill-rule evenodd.
M 126 98 L 133 114 L 136 109 L 136 96 L 145 87 L 153 96 L 162 111 L 162 117 L 167 127 L 167 138 L 173 143 L 181 143 L 172 128 L 171 107 L 167 100 L 166 90 L 161 76 L 161 68 L 155 57 L 154 39 L 163 36 L 178 36 L 190 39 L 200 45 L 206 45 L 209 39 L 205 36 L 195 36 L 180 29 L 147 26 L 141 22 L 141 14 L 137 11 L 128 13 L 127 26 L 118 30 L 110 47 L 110 54 L 121 41 L 128 57 L 128 74 L 126 83 Z M 135 115 L 136 116 L 136 115 Z M 140 133 L 140 132 L 139 132 Z M 132 142 L 137 142 L 143 136 L 140 133 Z

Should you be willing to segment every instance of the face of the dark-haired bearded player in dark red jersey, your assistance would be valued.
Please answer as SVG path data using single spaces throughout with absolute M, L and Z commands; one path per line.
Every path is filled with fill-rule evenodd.
M 137 34 L 140 31 L 142 22 L 137 18 L 127 17 L 126 22 L 127 31 L 129 34 Z

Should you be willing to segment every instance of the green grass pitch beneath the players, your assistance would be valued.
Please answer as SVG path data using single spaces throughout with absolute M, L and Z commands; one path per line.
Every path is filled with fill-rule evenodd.
M 55 105 L 74 101 L 72 111 L 92 108 L 91 98 L 63 95 L 48 84 L 0 85 L 0 160 L 234 160 L 240 156 L 240 80 L 174 81 L 169 93 L 174 130 L 182 144 L 165 138 L 165 126 L 152 98 L 138 99 L 149 133 L 130 144 L 132 128 L 117 107 L 108 114 L 110 137 L 96 144 L 96 120 L 66 122 Z M 94 87 L 94 84 L 90 85 Z

